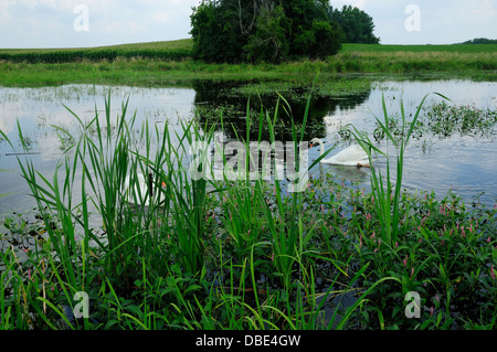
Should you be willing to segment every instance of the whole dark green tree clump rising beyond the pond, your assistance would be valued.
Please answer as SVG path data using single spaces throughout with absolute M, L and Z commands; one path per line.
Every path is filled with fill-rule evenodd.
M 193 57 L 207 62 L 322 58 L 343 42 L 380 41 L 369 14 L 329 0 L 203 0 L 191 28 Z

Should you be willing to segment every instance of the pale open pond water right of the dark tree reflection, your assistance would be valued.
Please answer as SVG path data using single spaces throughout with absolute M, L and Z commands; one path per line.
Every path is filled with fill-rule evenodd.
M 403 99 L 405 113 L 415 110 L 429 94 L 437 92 L 452 100 L 453 105 L 469 105 L 482 109 L 497 108 L 497 83 L 475 83 L 469 81 L 435 82 L 385 82 L 371 90 L 369 98 L 355 108 L 326 116 L 326 137 L 332 141 L 338 128 L 345 124 L 355 124 L 360 129 L 373 129 L 372 117 L 383 119 L 382 95 L 385 97 L 390 116 L 400 116 L 400 98 Z M 431 94 L 424 106 L 443 102 Z M 425 148 L 423 148 L 423 145 Z M 385 150 L 385 145 L 380 143 Z M 391 152 L 394 152 L 390 149 Z M 465 202 L 475 196 L 488 205 L 497 199 L 497 143 L 491 137 L 482 138 L 473 135 L 454 134 L 450 138 L 424 136 L 410 141 L 404 156 L 403 185 L 411 190 L 435 191 L 445 196 L 451 190 Z

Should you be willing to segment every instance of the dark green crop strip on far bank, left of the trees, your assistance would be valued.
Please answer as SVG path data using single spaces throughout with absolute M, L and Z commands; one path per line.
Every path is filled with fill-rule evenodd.
M 152 58 L 180 61 L 191 56 L 188 49 L 181 50 L 61 50 L 0 53 L 0 61 L 36 63 L 68 63 L 78 61 L 115 61 L 116 58 Z

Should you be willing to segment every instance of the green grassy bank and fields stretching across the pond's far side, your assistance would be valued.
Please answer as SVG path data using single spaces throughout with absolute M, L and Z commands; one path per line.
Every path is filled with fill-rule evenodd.
M 318 72 L 322 81 L 337 74 L 360 74 L 380 79 L 420 76 L 497 79 L 497 45 L 490 44 L 345 44 L 338 55 L 328 60 L 281 65 L 205 64 L 189 58 L 190 45 L 191 42 L 186 40 L 87 50 L 0 50 L 0 85 L 165 86 L 188 84 L 193 79 L 285 79 L 309 84 Z M 44 55 L 46 60 L 42 58 Z

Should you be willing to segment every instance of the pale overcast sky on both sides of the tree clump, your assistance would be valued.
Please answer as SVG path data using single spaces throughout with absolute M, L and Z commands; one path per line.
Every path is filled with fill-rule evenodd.
M 369 13 L 383 44 L 497 39 L 497 0 L 331 0 Z M 189 38 L 199 0 L 0 0 L 0 47 L 83 47 Z

